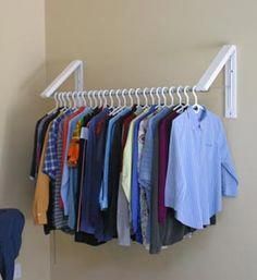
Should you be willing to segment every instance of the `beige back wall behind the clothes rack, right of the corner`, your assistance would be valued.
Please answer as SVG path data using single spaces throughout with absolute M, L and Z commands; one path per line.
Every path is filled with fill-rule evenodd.
M 223 121 L 240 196 L 225 199 L 218 224 L 156 256 L 115 242 L 93 248 L 59 233 L 52 280 L 256 279 L 256 9 L 254 0 L 46 0 L 49 81 L 82 59 L 86 88 L 192 85 L 223 44 L 238 47 L 238 118 Z M 221 80 L 201 102 L 222 117 Z

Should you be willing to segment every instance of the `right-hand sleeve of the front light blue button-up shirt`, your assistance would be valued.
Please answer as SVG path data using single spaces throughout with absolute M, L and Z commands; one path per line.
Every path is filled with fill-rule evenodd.
M 238 180 L 221 121 L 219 134 L 219 150 L 221 160 L 222 195 L 236 196 L 238 191 Z

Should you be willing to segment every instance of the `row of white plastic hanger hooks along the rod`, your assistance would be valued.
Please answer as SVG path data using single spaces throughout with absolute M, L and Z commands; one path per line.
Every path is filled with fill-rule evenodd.
M 109 107 L 110 109 L 114 108 L 125 108 L 127 106 L 133 106 L 135 104 L 133 96 L 136 97 L 136 104 L 139 106 L 143 100 L 139 96 L 144 98 L 144 108 L 147 108 L 151 105 L 157 105 L 157 107 L 173 107 L 174 97 L 176 95 L 179 98 L 179 104 L 174 109 L 184 109 L 189 106 L 189 95 L 194 97 L 193 108 L 198 112 L 203 107 L 198 104 L 198 98 L 196 95 L 196 86 L 178 86 L 178 87 L 151 87 L 151 88 L 131 88 L 131 89 L 106 89 L 106 90 L 88 90 L 88 92 L 65 92 L 65 93 L 56 93 L 53 95 L 56 101 L 56 108 L 51 111 L 62 107 L 62 108 L 78 108 L 83 106 L 89 106 L 91 108 Z M 182 94 L 185 96 L 185 102 L 183 102 Z M 150 102 L 148 101 L 148 96 L 150 96 Z M 114 96 L 118 99 L 118 105 L 114 102 Z M 130 102 L 126 101 L 126 96 L 130 98 Z M 171 102 L 168 101 L 167 96 L 170 97 Z M 110 98 L 108 102 L 107 97 Z M 155 98 L 157 97 L 157 101 Z M 162 100 L 161 100 L 162 97 Z M 87 100 L 88 99 L 88 100 Z

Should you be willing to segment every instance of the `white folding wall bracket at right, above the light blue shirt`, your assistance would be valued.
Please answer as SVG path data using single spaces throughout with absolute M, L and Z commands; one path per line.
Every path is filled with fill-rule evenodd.
M 236 68 L 236 46 L 225 45 L 212 60 L 197 84 L 198 92 L 208 92 L 221 70 L 224 69 L 224 87 L 225 87 L 225 118 L 237 117 L 237 68 Z

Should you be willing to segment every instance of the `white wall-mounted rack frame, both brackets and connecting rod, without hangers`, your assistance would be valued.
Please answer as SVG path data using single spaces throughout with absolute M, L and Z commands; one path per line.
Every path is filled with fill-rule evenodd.
M 75 92 L 85 92 L 84 90 L 84 75 L 83 75 L 83 63 L 82 60 L 72 61 L 58 77 L 41 93 L 41 97 L 52 97 L 54 93 L 63 85 L 63 83 L 70 78 L 71 75 L 75 77 Z M 213 84 L 217 76 L 224 69 L 224 115 L 225 118 L 236 118 L 237 117 L 237 104 L 236 104 L 236 95 L 237 95 L 237 65 L 236 65 L 236 46 L 235 45 L 224 45 L 218 54 L 215 57 L 209 68 L 206 70 L 204 75 L 200 77 L 199 82 L 196 84 L 195 88 L 197 93 L 206 93 L 209 92 L 211 85 Z M 157 87 L 157 88 L 171 88 L 171 87 Z M 184 87 L 172 87 L 173 93 L 179 89 L 184 89 Z M 189 89 L 192 89 L 189 87 Z M 115 92 L 120 92 L 121 94 L 124 90 L 128 92 L 130 89 L 117 89 Z M 140 89 L 144 90 L 144 89 Z M 105 95 L 111 93 L 109 89 L 100 89 L 100 90 L 89 90 L 89 92 L 101 92 Z M 158 90 L 155 89 L 155 94 L 159 94 Z M 160 90 L 161 93 L 161 90 Z M 134 94 L 134 93 L 132 93 Z

